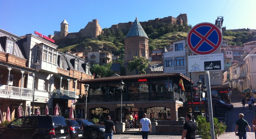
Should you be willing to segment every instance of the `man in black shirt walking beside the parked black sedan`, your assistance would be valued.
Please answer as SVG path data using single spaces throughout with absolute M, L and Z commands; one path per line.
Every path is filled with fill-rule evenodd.
M 109 139 L 113 139 L 113 133 L 116 133 L 115 131 L 115 125 L 114 122 L 111 120 L 110 116 L 107 116 L 107 120 L 104 122 L 105 125 L 105 139 L 109 137 Z

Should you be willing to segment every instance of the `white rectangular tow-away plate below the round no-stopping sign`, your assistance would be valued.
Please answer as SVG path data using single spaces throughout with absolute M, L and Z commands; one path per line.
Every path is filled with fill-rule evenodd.
M 189 72 L 224 70 L 224 55 L 207 54 L 188 56 Z

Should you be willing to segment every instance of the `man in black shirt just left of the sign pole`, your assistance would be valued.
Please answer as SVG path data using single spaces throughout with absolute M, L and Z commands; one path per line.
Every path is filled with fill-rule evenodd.
M 192 116 L 190 114 L 186 115 L 187 122 L 184 124 L 183 133 L 181 139 L 195 139 L 195 131 L 196 131 L 196 124 L 192 121 Z

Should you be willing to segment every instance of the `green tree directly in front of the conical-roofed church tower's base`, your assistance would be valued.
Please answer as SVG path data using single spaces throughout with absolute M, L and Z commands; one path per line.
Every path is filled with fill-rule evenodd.
M 134 56 L 133 59 L 134 59 L 133 61 L 129 61 L 128 63 L 128 70 L 132 72 L 138 69 L 140 74 L 146 74 L 145 69 L 148 67 L 149 61 L 147 61 L 145 57 Z

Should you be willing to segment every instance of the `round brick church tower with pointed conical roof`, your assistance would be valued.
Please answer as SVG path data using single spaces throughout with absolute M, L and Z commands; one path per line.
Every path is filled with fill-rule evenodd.
M 133 56 L 146 57 L 148 60 L 148 42 L 149 38 L 136 17 L 124 40 L 124 63 L 132 61 Z

